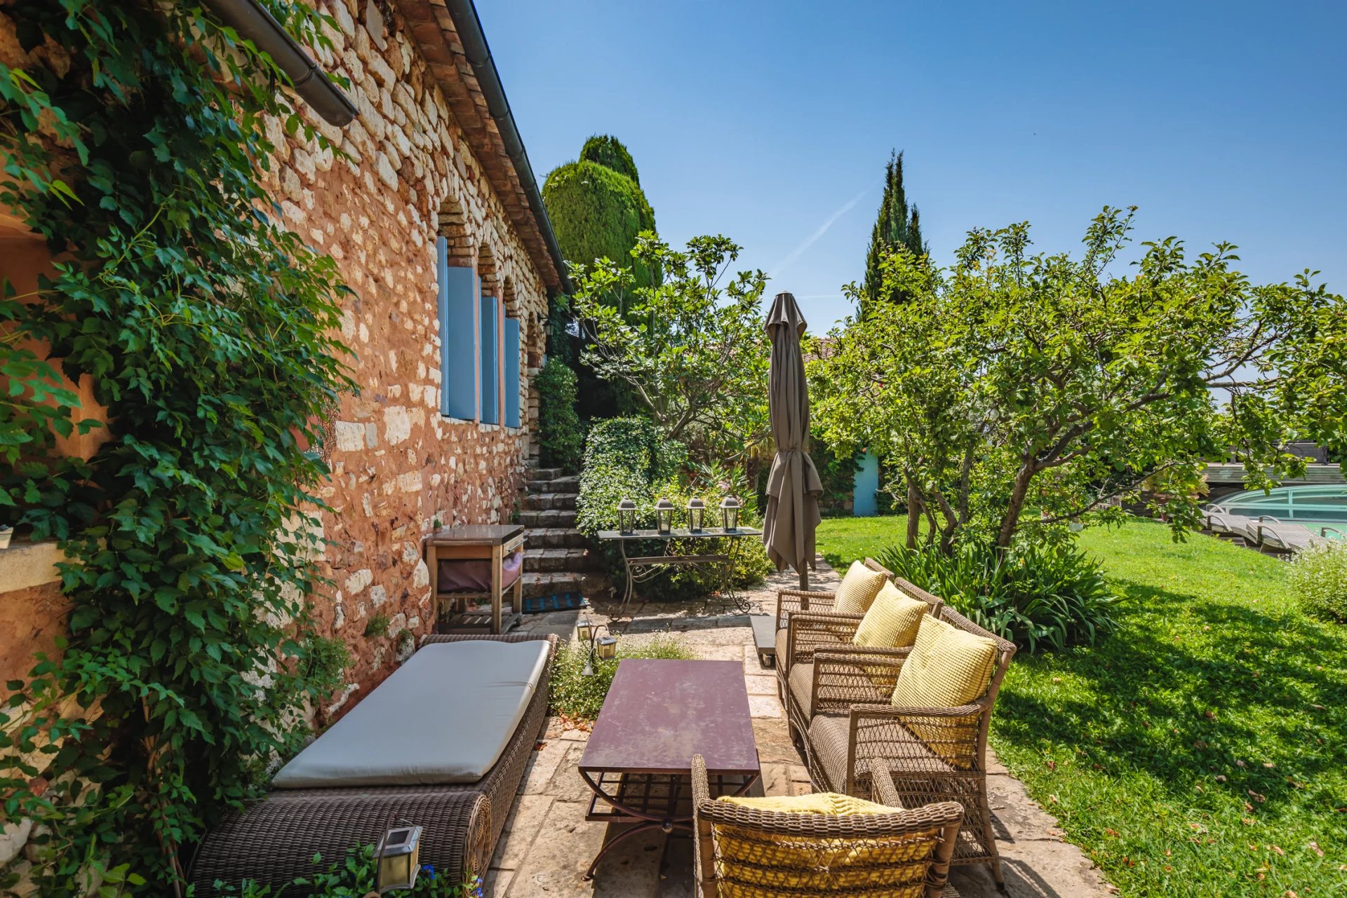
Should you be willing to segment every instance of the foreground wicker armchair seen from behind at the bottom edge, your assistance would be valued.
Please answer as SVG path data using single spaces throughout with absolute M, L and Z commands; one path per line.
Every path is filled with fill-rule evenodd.
M 882 769 L 874 781 L 896 805 Z M 713 801 L 692 755 L 692 815 L 699 898 L 958 898 L 948 875 L 963 809 L 950 801 L 846 817 L 758 810 Z

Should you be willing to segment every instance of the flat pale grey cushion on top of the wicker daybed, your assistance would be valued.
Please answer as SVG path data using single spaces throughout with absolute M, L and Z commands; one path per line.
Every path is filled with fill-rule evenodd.
M 547 642 L 422 646 L 280 769 L 280 789 L 477 782 L 524 718 Z

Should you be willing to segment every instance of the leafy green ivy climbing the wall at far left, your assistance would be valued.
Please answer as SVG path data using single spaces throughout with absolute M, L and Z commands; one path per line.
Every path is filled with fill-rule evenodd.
M 311 9 L 267 5 L 325 42 Z M 327 475 L 310 447 L 353 388 L 345 288 L 261 183 L 268 120 L 326 141 L 271 61 L 191 3 L 3 13 L 28 58 L 0 65 L 0 206 L 55 263 L 0 298 L 0 522 L 59 541 L 73 613 L 59 658 L 7 684 L 0 819 L 46 825 L 40 894 L 105 872 L 172 894 L 330 685 L 306 677 L 326 669 L 304 638 Z M 26 339 L 92 376 L 110 439 L 88 462 L 54 458 L 85 412 Z

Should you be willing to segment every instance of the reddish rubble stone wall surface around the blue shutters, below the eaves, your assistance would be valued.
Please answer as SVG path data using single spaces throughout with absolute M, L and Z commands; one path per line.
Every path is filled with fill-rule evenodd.
M 348 159 L 287 137 L 276 123 L 276 198 L 287 223 L 330 253 L 356 291 L 342 337 L 354 353 L 358 397 L 341 403 L 323 490 L 331 595 L 315 602 L 319 625 L 356 657 L 335 712 L 379 683 L 407 650 L 404 630 L 427 633 L 434 610 L 420 539 L 438 521 L 509 521 L 519 501 L 537 403 L 532 376 L 543 357 L 547 293 L 462 128 L 397 12 L 372 0 L 326 0 L 339 28 L 317 48 L 327 70 L 350 79 L 360 117 L 343 129 L 311 123 Z M 473 265 L 484 295 L 520 319 L 520 428 L 439 415 L 435 240 L 450 264 Z M 389 619 L 365 635 L 369 618 Z M 399 652 L 401 649 L 401 652 Z

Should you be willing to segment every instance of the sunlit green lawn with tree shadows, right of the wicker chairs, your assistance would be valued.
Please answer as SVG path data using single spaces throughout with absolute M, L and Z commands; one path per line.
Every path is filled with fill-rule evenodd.
M 902 518 L 828 520 L 830 563 Z M 1347 895 L 1347 627 L 1285 565 L 1162 525 L 1091 529 L 1123 598 L 1094 648 L 1021 654 L 993 745 L 1123 895 Z

